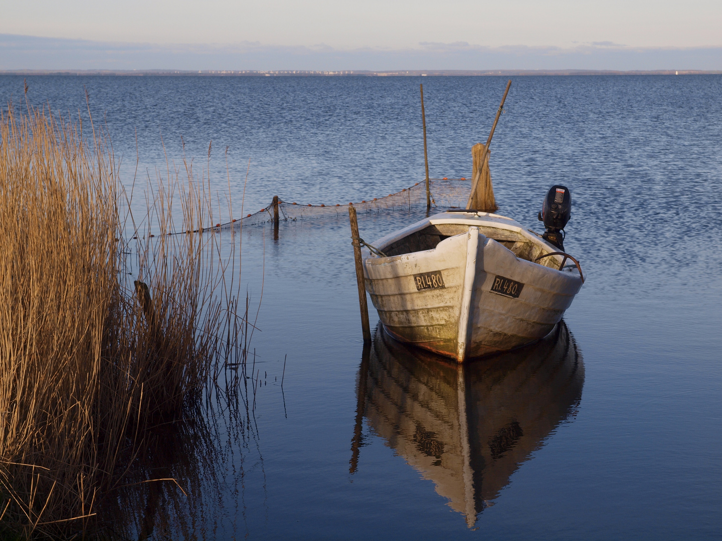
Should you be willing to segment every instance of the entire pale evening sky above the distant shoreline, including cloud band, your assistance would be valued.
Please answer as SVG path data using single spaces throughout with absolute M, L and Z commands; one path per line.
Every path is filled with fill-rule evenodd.
M 722 69 L 720 0 L 0 0 L 0 13 L 0 69 Z

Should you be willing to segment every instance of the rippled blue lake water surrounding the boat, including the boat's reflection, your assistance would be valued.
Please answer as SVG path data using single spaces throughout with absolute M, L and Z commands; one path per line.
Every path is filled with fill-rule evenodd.
M 85 87 L 123 182 L 136 149 L 142 186 L 183 137 L 239 215 L 422 180 L 419 82 L 431 176 L 470 177 L 505 79 L 32 76 L 27 98 L 87 116 Z M 0 76 L 0 97 L 25 107 L 22 77 Z M 263 293 L 254 418 L 219 412 L 168 466 L 192 501 L 143 500 L 139 535 L 172 516 L 178 539 L 719 539 L 721 97 L 722 76 L 513 79 L 499 212 L 539 230 L 546 190 L 570 188 L 565 247 L 587 280 L 557 333 L 461 370 L 378 328 L 364 353 L 346 219 L 244 228 L 254 307 Z M 361 236 L 422 215 L 362 216 Z

